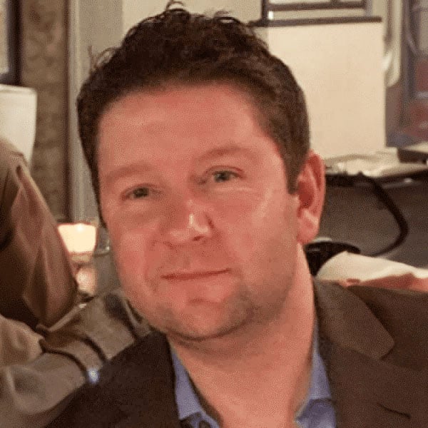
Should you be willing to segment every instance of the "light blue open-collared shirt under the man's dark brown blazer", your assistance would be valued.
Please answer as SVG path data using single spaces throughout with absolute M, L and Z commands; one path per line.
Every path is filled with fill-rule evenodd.
M 219 428 L 218 422 L 210 417 L 200 405 L 188 373 L 172 350 L 171 355 L 175 372 L 175 402 L 178 408 L 178 418 L 192 428 Z M 317 328 L 315 328 L 310 387 L 305 402 L 295 417 L 298 426 L 301 428 L 336 428 L 335 409 L 332 406 L 331 398 L 325 365 L 318 349 Z

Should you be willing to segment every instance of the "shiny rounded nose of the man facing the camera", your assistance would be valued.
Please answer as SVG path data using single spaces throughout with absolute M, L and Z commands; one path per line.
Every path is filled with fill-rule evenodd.
M 203 240 L 212 234 L 208 207 L 193 198 L 177 200 L 165 217 L 165 241 L 170 245 Z

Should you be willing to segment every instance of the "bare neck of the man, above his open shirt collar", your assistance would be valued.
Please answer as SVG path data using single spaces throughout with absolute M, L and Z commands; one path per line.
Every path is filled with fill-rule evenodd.
M 315 305 L 310 272 L 300 262 L 275 320 L 198 347 L 171 342 L 201 402 L 223 427 L 288 426 L 305 399 Z

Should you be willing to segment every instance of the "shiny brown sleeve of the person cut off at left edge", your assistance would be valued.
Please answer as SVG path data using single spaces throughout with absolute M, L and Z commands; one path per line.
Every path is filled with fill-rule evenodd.
M 77 299 L 56 220 L 19 151 L 0 139 L 0 314 L 53 325 Z

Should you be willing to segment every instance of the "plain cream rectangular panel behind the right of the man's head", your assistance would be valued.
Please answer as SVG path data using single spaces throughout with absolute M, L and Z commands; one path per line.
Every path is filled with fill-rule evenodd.
M 382 24 L 286 26 L 259 32 L 305 92 L 315 151 L 328 158 L 386 145 Z

